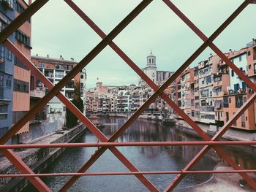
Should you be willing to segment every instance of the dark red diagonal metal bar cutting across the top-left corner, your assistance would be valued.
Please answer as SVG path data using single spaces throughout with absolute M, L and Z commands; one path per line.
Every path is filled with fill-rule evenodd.
M 25 9 L 15 20 L 3 29 L 0 33 L 0 44 L 3 43 L 12 33 L 23 25 L 35 12 L 42 8 L 49 0 L 37 0 L 34 1 L 27 9 Z

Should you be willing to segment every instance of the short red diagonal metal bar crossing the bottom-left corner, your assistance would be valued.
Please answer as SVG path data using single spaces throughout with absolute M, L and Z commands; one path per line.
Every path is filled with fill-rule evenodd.
M 1 152 L 8 158 L 8 160 L 19 170 L 22 174 L 34 174 L 34 172 L 27 166 L 18 155 L 16 155 L 12 150 L 1 150 Z M 49 192 L 51 191 L 39 177 L 26 177 L 29 182 L 37 188 L 38 191 Z

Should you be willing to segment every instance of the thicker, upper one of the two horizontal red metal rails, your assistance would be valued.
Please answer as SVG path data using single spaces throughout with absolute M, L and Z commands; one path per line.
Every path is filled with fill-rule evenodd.
M 0 149 L 59 148 L 59 147 L 129 147 L 129 146 L 181 146 L 181 145 L 256 145 L 256 141 L 203 141 L 203 142 L 82 142 L 0 145 Z

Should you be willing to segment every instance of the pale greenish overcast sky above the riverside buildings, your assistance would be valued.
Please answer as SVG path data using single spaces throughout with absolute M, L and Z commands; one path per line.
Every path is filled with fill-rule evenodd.
M 76 0 L 86 15 L 108 34 L 139 3 L 138 0 Z M 242 3 L 240 0 L 176 0 L 173 1 L 208 37 Z M 256 4 L 251 4 L 214 41 L 223 51 L 238 50 L 256 37 Z M 101 41 L 100 37 L 72 11 L 63 0 L 49 1 L 32 18 L 32 54 L 80 61 Z M 146 66 L 150 50 L 157 56 L 157 69 L 175 71 L 202 40 L 186 26 L 162 1 L 154 0 L 113 40 L 140 68 Z M 206 59 L 206 49 L 197 62 Z M 87 87 L 102 81 L 105 85 L 138 83 L 138 75 L 106 47 L 86 66 Z

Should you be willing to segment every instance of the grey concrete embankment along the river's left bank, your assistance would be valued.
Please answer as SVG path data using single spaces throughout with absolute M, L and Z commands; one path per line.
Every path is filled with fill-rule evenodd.
M 79 124 L 68 130 L 61 130 L 54 134 L 36 139 L 30 143 L 47 144 L 47 143 L 64 143 L 74 142 L 86 131 L 83 124 Z M 20 158 L 35 172 L 42 172 L 51 162 L 63 153 L 65 148 L 42 148 L 42 149 L 26 149 L 15 151 Z M 18 174 L 17 169 L 5 157 L 0 158 L 0 174 Z M 0 178 L 0 191 L 20 191 L 27 185 L 28 181 L 23 178 Z

